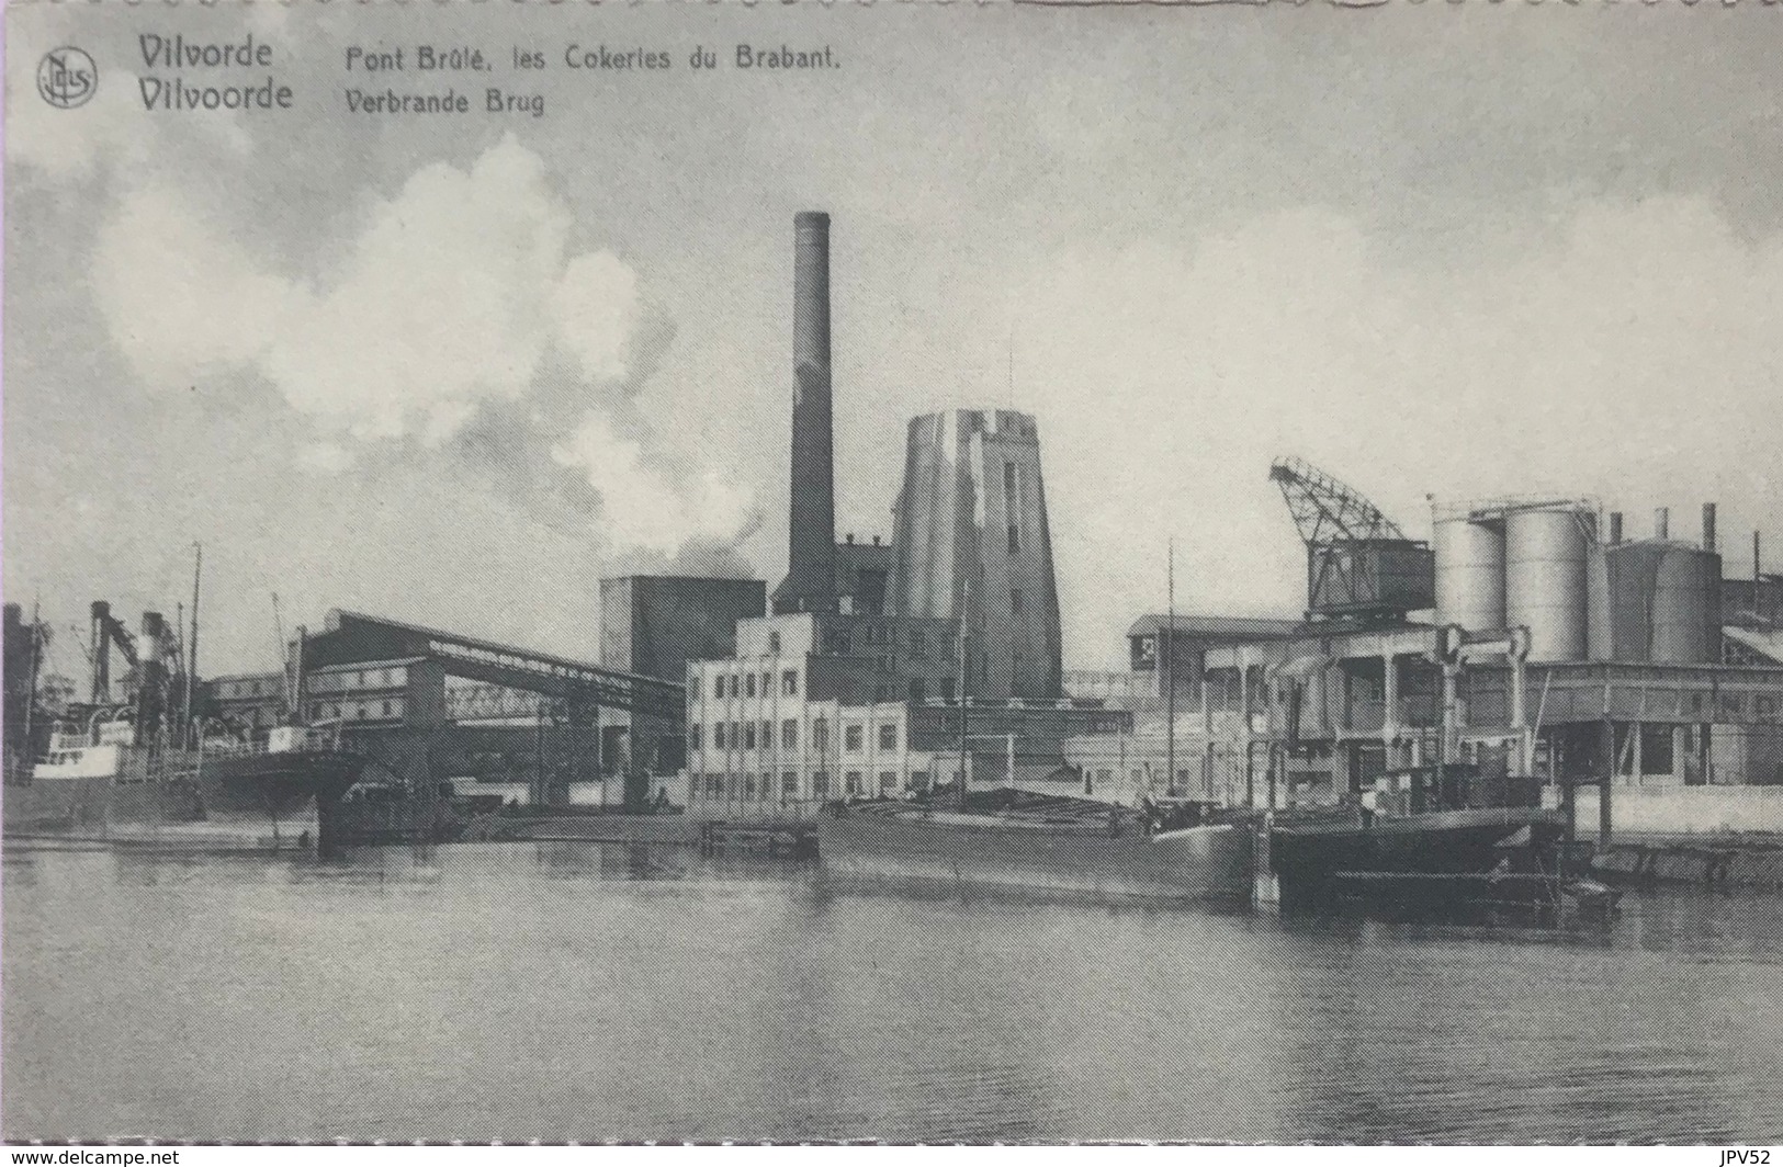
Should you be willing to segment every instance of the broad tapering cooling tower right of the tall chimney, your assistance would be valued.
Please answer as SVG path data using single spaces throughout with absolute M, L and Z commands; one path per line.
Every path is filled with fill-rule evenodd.
M 972 697 L 1059 697 L 1059 590 L 1032 417 L 913 419 L 893 554 L 892 611 L 965 620 Z

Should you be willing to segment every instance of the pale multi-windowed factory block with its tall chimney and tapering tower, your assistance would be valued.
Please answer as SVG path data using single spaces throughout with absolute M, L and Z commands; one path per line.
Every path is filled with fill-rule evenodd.
M 804 809 L 900 793 L 961 768 L 1052 775 L 1063 743 L 1130 713 L 1061 686 L 1059 597 L 1032 417 L 909 422 L 892 543 L 834 531 L 829 216 L 793 221 L 786 577 L 735 654 L 688 665 L 695 807 Z

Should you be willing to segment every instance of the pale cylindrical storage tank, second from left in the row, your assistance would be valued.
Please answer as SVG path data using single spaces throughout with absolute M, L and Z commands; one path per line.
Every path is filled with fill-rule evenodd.
M 1530 629 L 1532 661 L 1585 657 L 1585 559 L 1594 517 L 1580 508 L 1505 517 L 1505 620 Z

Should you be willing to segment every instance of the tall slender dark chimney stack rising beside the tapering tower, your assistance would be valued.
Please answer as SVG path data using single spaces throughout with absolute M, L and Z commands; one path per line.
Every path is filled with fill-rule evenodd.
M 792 492 L 777 615 L 836 611 L 836 465 L 829 392 L 829 216 L 793 217 Z

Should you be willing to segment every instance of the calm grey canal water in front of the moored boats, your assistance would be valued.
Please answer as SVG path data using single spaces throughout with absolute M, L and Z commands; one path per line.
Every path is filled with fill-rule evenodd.
M 1783 1138 L 1783 912 L 854 894 L 528 843 L 4 855 L 9 1138 Z

